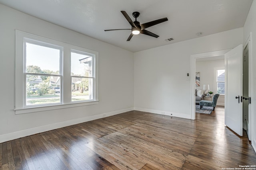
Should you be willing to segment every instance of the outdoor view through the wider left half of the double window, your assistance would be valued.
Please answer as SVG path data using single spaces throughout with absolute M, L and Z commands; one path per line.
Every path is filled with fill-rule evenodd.
M 27 106 L 61 102 L 60 53 L 60 49 L 26 42 Z

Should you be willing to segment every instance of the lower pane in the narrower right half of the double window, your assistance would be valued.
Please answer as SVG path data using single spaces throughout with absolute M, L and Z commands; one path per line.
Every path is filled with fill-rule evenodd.
M 72 77 L 72 102 L 93 100 L 93 79 Z

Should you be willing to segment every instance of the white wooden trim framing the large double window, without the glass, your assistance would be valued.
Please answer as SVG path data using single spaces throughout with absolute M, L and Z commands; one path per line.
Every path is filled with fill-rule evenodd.
M 24 99 L 26 95 L 24 92 L 24 76 L 23 76 L 23 69 L 24 69 L 24 38 L 32 39 L 33 41 L 42 41 L 44 43 L 54 44 L 56 46 L 63 47 L 65 50 L 63 52 L 63 60 L 60 61 L 60 76 L 65 76 L 62 82 L 62 104 L 51 104 L 48 106 L 32 106 L 32 107 L 24 107 Z M 81 101 L 81 102 L 71 102 L 71 49 L 75 49 L 78 51 L 84 51 L 88 54 L 94 55 L 94 100 L 93 101 Z M 23 63 L 23 64 L 21 64 Z M 65 69 L 63 69 L 65 68 Z M 63 71 L 63 72 L 62 72 Z M 68 78 L 69 77 L 69 78 Z M 20 85 L 22 83 L 22 85 Z M 22 114 L 22 113 L 32 113 L 38 111 L 47 111 L 47 110 L 55 110 L 55 109 L 63 109 L 69 107 L 80 107 L 80 106 L 87 106 L 92 104 L 98 104 L 98 52 L 92 51 L 89 49 L 85 49 L 82 47 L 77 47 L 74 45 L 70 45 L 67 43 L 62 43 L 56 40 L 40 37 L 38 35 L 33 35 L 30 33 L 26 33 L 23 31 L 16 30 L 16 58 L 15 58 L 15 106 L 14 111 L 15 114 Z

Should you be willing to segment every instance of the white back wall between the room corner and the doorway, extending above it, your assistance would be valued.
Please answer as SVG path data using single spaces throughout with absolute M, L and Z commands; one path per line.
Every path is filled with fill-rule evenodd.
M 243 28 L 238 28 L 134 53 L 135 109 L 191 118 L 190 55 L 242 43 Z

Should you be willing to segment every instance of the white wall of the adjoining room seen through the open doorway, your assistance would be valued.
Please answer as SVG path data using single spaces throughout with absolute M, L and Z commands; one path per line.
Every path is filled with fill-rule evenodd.
M 196 89 L 202 89 L 204 84 L 209 84 L 210 90 L 216 94 L 215 86 L 215 77 L 214 77 L 214 68 L 225 66 L 224 59 L 221 60 L 212 60 L 212 61 L 196 61 L 196 72 L 200 72 L 200 86 Z M 217 105 L 224 106 L 224 95 L 220 95 L 217 100 Z

